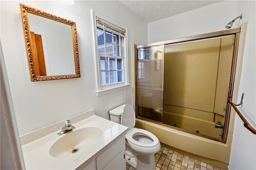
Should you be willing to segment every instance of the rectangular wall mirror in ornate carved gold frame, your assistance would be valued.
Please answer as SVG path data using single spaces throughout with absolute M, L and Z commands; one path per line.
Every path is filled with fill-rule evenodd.
M 80 77 L 76 22 L 20 4 L 31 81 Z

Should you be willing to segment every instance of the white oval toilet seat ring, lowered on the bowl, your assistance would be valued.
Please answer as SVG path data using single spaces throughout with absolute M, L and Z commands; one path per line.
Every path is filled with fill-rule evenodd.
M 139 142 L 137 140 L 135 140 L 133 137 L 137 135 L 143 135 L 143 136 L 147 136 L 148 138 L 152 139 L 153 142 L 152 143 L 143 143 L 143 142 Z M 151 132 L 144 130 L 144 129 L 140 129 L 140 128 L 132 128 L 132 130 L 130 130 L 130 132 L 128 132 L 125 135 L 126 140 L 128 140 L 129 142 L 131 142 L 134 145 L 137 146 L 142 146 L 142 147 L 155 147 L 159 144 L 159 140 L 158 138 L 152 134 Z

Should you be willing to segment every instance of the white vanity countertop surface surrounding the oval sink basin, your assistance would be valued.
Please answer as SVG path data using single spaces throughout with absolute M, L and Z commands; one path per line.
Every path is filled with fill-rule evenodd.
M 76 127 L 72 131 L 79 130 L 80 128 L 84 127 L 98 127 L 102 130 L 102 136 L 90 148 L 79 151 L 74 155 L 68 156 L 66 158 L 55 158 L 49 153 L 49 150 L 54 142 L 67 134 L 65 133 L 59 136 L 57 132 L 59 132 L 61 129 L 47 134 L 46 136 L 40 137 L 34 141 L 28 142 L 22 146 L 26 169 L 76 169 L 78 166 L 86 162 L 86 160 L 90 159 L 92 156 L 98 153 L 111 141 L 118 138 L 124 134 L 126 130 L 128 130 L 128 127 L 119 125 L 96 115 L 89 115 L 89 117 L 86 119 L 83 119 L 77 123 L 73 123 L 72 125 Z M 42 130 L 40 130 L 40 132 L 42 132 Z

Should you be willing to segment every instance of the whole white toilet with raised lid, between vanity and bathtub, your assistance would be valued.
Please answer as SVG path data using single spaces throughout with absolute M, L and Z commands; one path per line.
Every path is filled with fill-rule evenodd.
M 160 150 L 158 138 L 151 132 L 135 128 L 135 113 L 132 105 L 126 104 L 109 111 L 110 121 L 128 127 L 126 138 L 126 162 L 137 170 L 155 170 L 155 156 Z

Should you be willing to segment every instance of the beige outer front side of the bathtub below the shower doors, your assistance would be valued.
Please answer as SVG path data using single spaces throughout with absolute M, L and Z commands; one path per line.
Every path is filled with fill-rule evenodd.
M 162 144 L 184 151 L 184 154 L 226 170 L 231 151 L 232 133 L 228 132 L 226 144 L 196 136 L 159 123 L 136 118 L 136 128 L 142 128 L 157 136 Z

